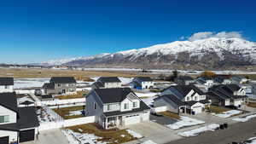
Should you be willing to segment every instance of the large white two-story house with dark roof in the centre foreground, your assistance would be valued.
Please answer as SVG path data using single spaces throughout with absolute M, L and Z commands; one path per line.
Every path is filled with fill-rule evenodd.
M 149 120 L 150 108 L 130 88 L 93 89 L 86 96 L 85 113 L 104 129 Z

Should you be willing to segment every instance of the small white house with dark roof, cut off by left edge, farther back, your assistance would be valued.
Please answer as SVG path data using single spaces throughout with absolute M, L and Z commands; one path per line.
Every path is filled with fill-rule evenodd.
M 0 93 L 14 91 L 14 78 L 0 78 Z

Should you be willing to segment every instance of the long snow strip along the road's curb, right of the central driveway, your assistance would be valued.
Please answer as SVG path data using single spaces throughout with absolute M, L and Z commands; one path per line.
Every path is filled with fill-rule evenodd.
M 182 135 L 184 137 L 190 137 L 190 136 L 199 135 L 202 132 L 214 131 L 214 130 L 218 129 L 218 127 L 219 127 L 219 124 L 210 124 L 210 125 L 203 126 L 201 128 L 195 129 L 195 130 L 179 132 L 178 135 Z

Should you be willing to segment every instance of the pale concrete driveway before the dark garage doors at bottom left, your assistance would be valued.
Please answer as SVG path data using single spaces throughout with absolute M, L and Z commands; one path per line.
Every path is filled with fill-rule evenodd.
M 44 130 L 40 132 L 39 139 L 36 141 L 22 142 L 22 144 L 69 144 L 61 130 Z

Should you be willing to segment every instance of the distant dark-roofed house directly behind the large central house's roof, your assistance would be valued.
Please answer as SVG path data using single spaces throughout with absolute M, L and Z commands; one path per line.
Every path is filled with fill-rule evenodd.
M 120 88 L 121 86 L 121 81 L 117 77 L 101 77 L 91 85 L 91 89 Z

